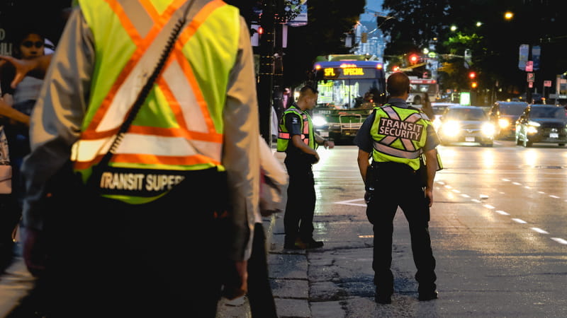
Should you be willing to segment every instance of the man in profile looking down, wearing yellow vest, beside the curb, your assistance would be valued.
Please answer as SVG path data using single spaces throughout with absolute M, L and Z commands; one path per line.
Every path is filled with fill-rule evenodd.
M 333 141 L 323 139 L 313 131 L 308 110 L 317 104 L 318 90 L 303 86 L 299 98 L 283 113 L 279 125 L 278 151 L 286 152 L 284 163 L 288 170 L 288 201 L 283 216 L 286 249 L 312 249 L 323 246 L 313 239 L 315 213 L 315 180 L 311 165 L 318 163 L 318 145 L 335 147 Z

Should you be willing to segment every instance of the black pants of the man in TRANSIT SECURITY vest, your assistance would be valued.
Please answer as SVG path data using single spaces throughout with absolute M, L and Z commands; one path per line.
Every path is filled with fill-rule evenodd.
M 428 222 L 430 211 L 420 187 L 417 173 L 401 163 L 374 163 L 375 192 L 366 208 L 366 216 L 374 225 L 374 283 L 378 293 L 393 293 L 392 235 L 393 219 L 398 206 L 410 226 L 412 254 L 420 291 L 436 288 L 435 259 L 431 249 Z

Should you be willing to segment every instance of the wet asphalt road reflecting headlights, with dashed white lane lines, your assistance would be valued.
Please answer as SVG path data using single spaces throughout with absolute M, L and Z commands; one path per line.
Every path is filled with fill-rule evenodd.
M 440 298 L 417 300 L 408 224 L 398 210 L 395 294 L 391 305 L 378 305 L 357 148 L 320 148 L 315 238 L 325 247 L 284 250 L 283 216 L 265 223 L 279 317 L 567 317 L 566 150 L 512 141 L 440 146 L 445 168 L 430 222 Z

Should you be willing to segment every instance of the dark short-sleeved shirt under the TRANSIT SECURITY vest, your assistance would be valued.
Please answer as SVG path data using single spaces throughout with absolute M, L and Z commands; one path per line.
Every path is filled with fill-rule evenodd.
M 399 108 L 410 108 L 405 100 L 401 98 L 391 98 L 391 100 L 388 101 L 388 104 Z M 367 153 L 372 153 L 374 149 L 374 139 L 372 139 L 370 129 L 372 124 L 374 124 L 375 118 L 376 112 L 372 112 L 372 114 L 364 120 L 357 136 L 354 138 L 354 144 Z M 437 147 L 439 143 L 439 137 L 437 137 L 437 133 L 435 132 L 433 125 L 427 126 L 427 139 L 425 140 L 423 151 L 430 151 Z

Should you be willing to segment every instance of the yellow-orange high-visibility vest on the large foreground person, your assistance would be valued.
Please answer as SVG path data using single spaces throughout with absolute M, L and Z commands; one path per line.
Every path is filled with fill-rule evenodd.
M 155 69 L 184 4 L 186 0 L 79 0 L 96 53 L 89 106 L 73 147 L 74 169 L 84 179 L 108 152 L 137 93 Z M 109 177 L 108 187 L 115 188 L 116 194 L 111 191 L 108 197 L 145 203 L 161 195 L 157 190 L 164 190 L 164 183 L 171 188 L 179 182 L 176 171 L 223 169 L 223 107 L 237 57 L 240 12 L 220 0 L 202 8 L 193 6 L 191 11 L 195 9 L 198 13 L 181 30 L 154 88 L 109 163 L 135 170 L 134 175 L 151 170 L 155 179 L 144 184 L 141 177 Z M 153 192 L 129 195 L 125 188 Z

